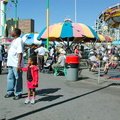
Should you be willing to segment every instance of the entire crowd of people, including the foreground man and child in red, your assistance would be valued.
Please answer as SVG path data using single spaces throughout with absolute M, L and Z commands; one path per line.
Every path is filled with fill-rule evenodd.
M 87 59 L 88 64 L 91 66 L 90 70 L 94 71 L 100 66 L 99 61 L 104 61 L 104 73 L 106 74 L 111 67 L 116 67 L 117 64 L 114 61 L 119 60 L 119 48 L 117 46 L 105 46 L 94 47 L 93 49 L 84 49 L 83 45 L 62 46 L 56 48 L 51 46 L 48 49 L 44 44 L 26 47 L 23 40 L 20 38 L 21 30 L 15 28 L 12 37 L 12 41 L 9 48 L 7 46 L 0 45 L 0 74 L 2 73 L 2 66 L 8 68 L 7 76 L 7 94 L 5 98 L 13 97 L 14 100 L 18 100 L 22 97 L 23 93 L 23 78 L 22 71 L 26 71 L 26 81 L 28 87 L 28 97 L 25 100 L 25 104 L 35 103 L 36 88 L 39 82 L 39 72 L 44 69 L 45 61 L 47 58 L 52 60 L 51 71 L 54 69 L 62 68 L 65 66 L 65 60 L 67 54 L 74 54 L 81 59 Z M 47 56 L 47 58 L 46 58 Z M 24 64 L 28 64 L 24 67 Z M 30 98 L 32 94 L 32 99 Z

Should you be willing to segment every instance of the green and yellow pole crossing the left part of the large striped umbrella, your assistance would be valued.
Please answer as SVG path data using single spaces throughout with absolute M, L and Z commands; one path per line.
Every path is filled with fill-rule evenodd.
M 46 26 L 47 26 L 46 45 L 47 45 L 47 49 L 49 49 L 49 0 L 47 0 L 47 6 L 46 6 Z

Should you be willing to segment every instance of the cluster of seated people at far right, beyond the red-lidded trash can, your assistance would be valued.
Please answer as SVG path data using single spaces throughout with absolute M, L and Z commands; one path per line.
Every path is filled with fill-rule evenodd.
M 104 67 L 104 74 L 108 73 L 110 68 L 116 68 L 119 65 L 120 52 L 117 46 L 104 45 L 101 49 L 97 48 L 90 52 L 90 57 L 88 58 L 88 64 L 90 65 L 89 70 L 94 71 L 97 67 Z

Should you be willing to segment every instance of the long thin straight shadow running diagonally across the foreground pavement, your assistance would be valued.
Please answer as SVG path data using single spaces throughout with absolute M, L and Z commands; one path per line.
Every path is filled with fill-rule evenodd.
M 63 101 L 60 101 L 60 102 L 57 102 L 57 103 L 54 103 L 54 104 L 51 104 L 51 105 L 47 105 L 47 106 L 45 106 L 45 107 L 42 107 L 42 108 L 39 108 L 39 109 L 36 109 L 36 110 L 33 110 L 33 111 L 29 111 L 29 112 L 27 112 L 27 113 L 24 113 L 24 114 L 15 116 L 15 117 L 10 118 L 10 119 L 8 119 L 8 120 L 16 120 L 16 119 L 19 119 L 19 118 L 26 117 L 26 116 L 28 116 L 28 115 L 31 115 L 31 114 L 34 114 L 34 113 L 37 113 L 37 112 L 46 110 L 46 109 L 48 109 L 48 108 L 51 108 L 51 107 L 54 107 L 54 106 L 57 106 L 57 105 L 61 105 L 61 104 L 63 104 L 63 103 L 66 103 L 66 102 L 69 102 L 69 101 L 78 99 L 78 98 L 80 98 L 80 97 L 84 97 L 84 96 L 86 96 L 86 95 L 90 95 L 90 94 L 92 94 L 92 93 L 95 93 L 95 92 L 97 92 L 97 91 L 103 90 L 103 89 L 108 88 L 108 87 L 110 87 L 110 86 L 111 86 L 111 85 L 107 85 L 107 86 L 105 86 L 105 87 L 101 87 L 101 88 L 99 88 L 99 89 L 96 89 L 96 90 L 93 90 L 93 91 L 84 93 L 84 94 L 82 94 L 82 95 L 78 95 L 78 96 L 69 98 L 69 99 L 67 99 L 67 100 L 63 100 Z

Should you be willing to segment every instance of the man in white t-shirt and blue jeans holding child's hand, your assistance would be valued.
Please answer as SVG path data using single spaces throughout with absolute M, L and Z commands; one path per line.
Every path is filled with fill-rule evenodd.
M 23 61 L 23 41 L 20 38 L 21 30 L 15 28 L 12 37 L 10 48 L 8 50 L 7 66 L 7 94 L 5 98 L 14 96 L 14 100 L 18 100 L 22 97 L 22 71 L 21 67 L 24 65 Z

